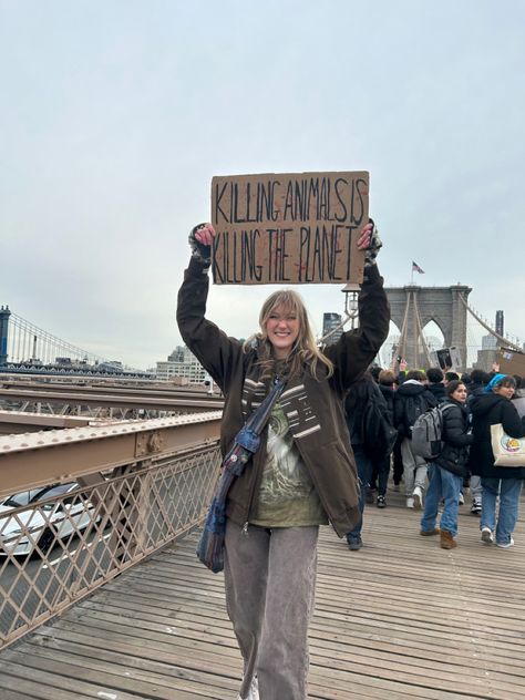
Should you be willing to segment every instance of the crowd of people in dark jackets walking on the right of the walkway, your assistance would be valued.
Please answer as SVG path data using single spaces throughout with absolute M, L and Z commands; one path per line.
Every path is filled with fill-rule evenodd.
M 360 420 L 363 402 L 383 401 L 385 415 L 398 431 L 389 455 L 372 455 L 374 437 Z M 426 461 L 414 452 L 412 429 L 419 415 L 440 406 L 443 449 Z M 501 423 L 511 437 L 525 436 L 525 380 L 475 369 L 461 375 L 431 367 L 426 371 L 403 369 L 398 373 L 372 367 L 352 384 L 346 399 L 347 425 L 364 503 L 387 506 L 387 484 L 392 473 L 393 488 L 401 484 L 408 508 L 422 511 L 422 536 L 437 535 L 444 549 L 457 546 L 459 506 L 470 492 L 471 513 L 480 516 L 481 542 L 508 548 L 518 517 L 524 467 L 494 464 L 491 425 Z M 442 506 L 437 526 L 439 509 Z M 362 516 L 359 527 L 347 534 L 351 550 L 363 546 Z

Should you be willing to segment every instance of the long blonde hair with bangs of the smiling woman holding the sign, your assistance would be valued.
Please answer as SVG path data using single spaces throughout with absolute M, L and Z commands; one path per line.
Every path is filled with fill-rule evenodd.
M 275 357 L 272 346 L 268 340 L 266 323 L 271 312 L 281 307 L 285 313 L 296 316 L 299 321 L 299 334 L 294 343 L 290 354 L 287 358 L 287 366 L 290 375 L 299 374 L 302 364 L 308 364 L 312 377 L 317 377 L 317 367 L 320 362 L 328 370 L 328 377 L 333 374 L 333 362 L 319 350 L 316 338 L 311 330 L 308 311 L 301 297 L 292 289 L 281 289 L 270 295 L 264 302 L 259 312 L 260 331 L 248 338 L 244 344 L 245 350 L 253 347 L 254 340 L 258 341 L 258 364 L 262 368 L 261 379 L 271 377 L 275 369 Z

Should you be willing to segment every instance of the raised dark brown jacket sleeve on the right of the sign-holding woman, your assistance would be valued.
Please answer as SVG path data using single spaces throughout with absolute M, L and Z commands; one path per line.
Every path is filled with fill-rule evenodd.
M 389 333 L 390 306 L 375 265 L 367 268 L 359 292 L 359 328 L 341 336 L 325 354 L 334 364 L 333 381 L 341 395 L 378 354 Z

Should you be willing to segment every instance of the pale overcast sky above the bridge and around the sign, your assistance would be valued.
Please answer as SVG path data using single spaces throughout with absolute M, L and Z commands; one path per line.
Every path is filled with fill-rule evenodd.
M 525 339 L 522 0 L 0 0 L 0 305 L 140 368 L 181 342 L 214 175 L 369 171 L 388 286 Z M 268 286 L 214 287 L 256 330 Z M 339 286 L 301 286 L 313 325 Z

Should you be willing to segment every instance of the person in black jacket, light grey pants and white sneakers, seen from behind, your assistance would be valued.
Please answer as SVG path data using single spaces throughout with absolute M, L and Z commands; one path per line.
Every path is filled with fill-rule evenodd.
M 401 441 L 403 460 L 403 480 L 408 508 L 421 508 L 426 488 L 426 462 L 412 451 L 412 426 L 421 413 L 437 405 L 437 400 L 426 389 L 425 374 L 419 370 L 410 370 L 405 381 L 394 394 L 394 426 Z

